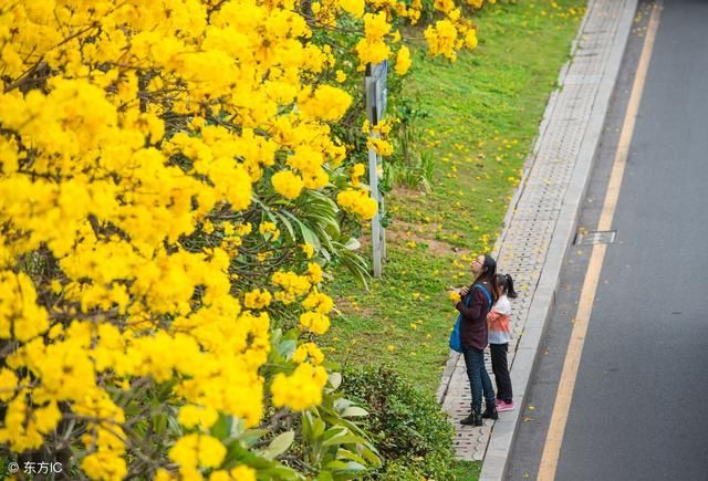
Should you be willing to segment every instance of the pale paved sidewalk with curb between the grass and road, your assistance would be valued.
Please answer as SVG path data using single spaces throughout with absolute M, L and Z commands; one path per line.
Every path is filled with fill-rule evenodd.
M 520 287 L 512 301 L 509 362 L 513 411 L 480 428 L 457 422 L 470 409 L 465 360 L 451 353 L 438 399 L 456 425 L 457 457 L 485 460 L 480 480 L 503 478 L 562 260 L 570 247 L 637 0 L 590 0 L 572 61 L 546 107 L 521 187 L 510 205 L 494 252 L 499 271 Z M 489 356 L 486 355 L 491 373 Z

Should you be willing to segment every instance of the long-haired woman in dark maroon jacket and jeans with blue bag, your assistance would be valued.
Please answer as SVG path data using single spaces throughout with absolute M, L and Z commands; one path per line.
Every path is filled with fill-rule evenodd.
M 472 262 L 475 281 L 470 287 L 460 290 L 460 301 L 455 306 L 462 315 L 460 338 L 467 376 L 472 391 L 472 411 L 460 422 L 466 426 L 481 426 L 482 417 L 497 419 L 494 390 L 485 368 L 485 347 L 488 342 L 487 314 L 494 301 L 492 281 L 497 273 L 497 262 L 489 255 L 479 255 Z M 481 412 L 482 395 L 486 410 Z

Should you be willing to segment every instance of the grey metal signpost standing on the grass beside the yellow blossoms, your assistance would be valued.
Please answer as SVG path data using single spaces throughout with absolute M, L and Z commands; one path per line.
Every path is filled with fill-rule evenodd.
M 386 111 L 386 76 L 388 74 L 388 61 L 368 64 L 366 66 L 366 117 L 372 125 L 377 125 Z M 377 133 L 372 133 L 378 137 Z M 386 230 L 381 223 L 384 215 L 384 199 L 378 191 L 378 166 L 382 158 L 369 147 L 368 149 L 368 185 L 372 189 L 372 198 L 378 205 L 376 216 L 372 219 L 372 250 L 374 278 L 381 278 L 382 262 L 386 259 Z

